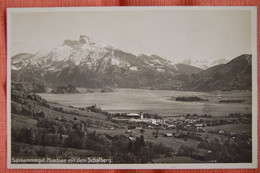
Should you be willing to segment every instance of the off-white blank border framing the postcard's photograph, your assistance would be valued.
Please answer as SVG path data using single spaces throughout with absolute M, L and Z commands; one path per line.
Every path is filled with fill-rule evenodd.
M 250 10 L 252 17 L 252 163 L 195 164 L 12 164 L 11 163 L 11 14 L 15 12 L 79 12 L 79 11 L 142 11 L 142 10 Z M 257 83 L 257 8 L 253 6 L 204 7 L 49 7 L 7 9 L 7 168 L 9 169 L 237 169 L 257 168 L 258 155 L 258 83 Z

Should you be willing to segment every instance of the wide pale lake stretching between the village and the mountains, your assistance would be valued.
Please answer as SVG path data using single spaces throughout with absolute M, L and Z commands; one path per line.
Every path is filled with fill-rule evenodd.
M 162 116 L 177 116 L 182 114 L 211 114 L 223 116 L 229 113 L 251 113 L 251 92 L 205 93 L 172 90 L 148 89 L 116 89 L 108 93 L 79 94 L 39 94 L 48 101 L 75 107 L 87 107 L 96 104 L 108 112 L 140 111 L 158 113 Z M 198 96 L 208 99 L 206 102 L 178 102 L 169 100 L 170 97 Z M 243 103 L 218 103 L 225 99 L 243 99 Z

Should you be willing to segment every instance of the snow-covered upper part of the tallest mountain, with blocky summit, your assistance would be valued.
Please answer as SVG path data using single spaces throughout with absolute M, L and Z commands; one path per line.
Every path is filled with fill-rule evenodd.
M 44 68 L 45 70 L 61 70 L 68 65 L 93 66 L 110 50 L 96 44 L 92 38 L 81 35 L 78 40 L 65 40 L 60 46 L 50 51 L 39 51 L 30 58 L 16 58 L 12 62 L 13 69 L 22 69 L 25 66 Z M 63 65 L 61 65 L 63 64 Z

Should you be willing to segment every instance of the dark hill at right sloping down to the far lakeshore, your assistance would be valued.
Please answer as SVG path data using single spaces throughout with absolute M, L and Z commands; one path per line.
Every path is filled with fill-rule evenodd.
M 251 90 L 252 55 L 244 54 L 226 64 L 216 65 L 193 74 L 185 89 L 195 91 Z

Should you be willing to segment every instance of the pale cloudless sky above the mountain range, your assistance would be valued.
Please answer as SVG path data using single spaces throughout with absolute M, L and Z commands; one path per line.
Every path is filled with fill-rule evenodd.
M 156 54 L 173 62 L 252 53 L 251 11 L 175 9 L 14 11 L 7 31 L 11 56 L 51 50 L 80 35 L 135 55 Z

